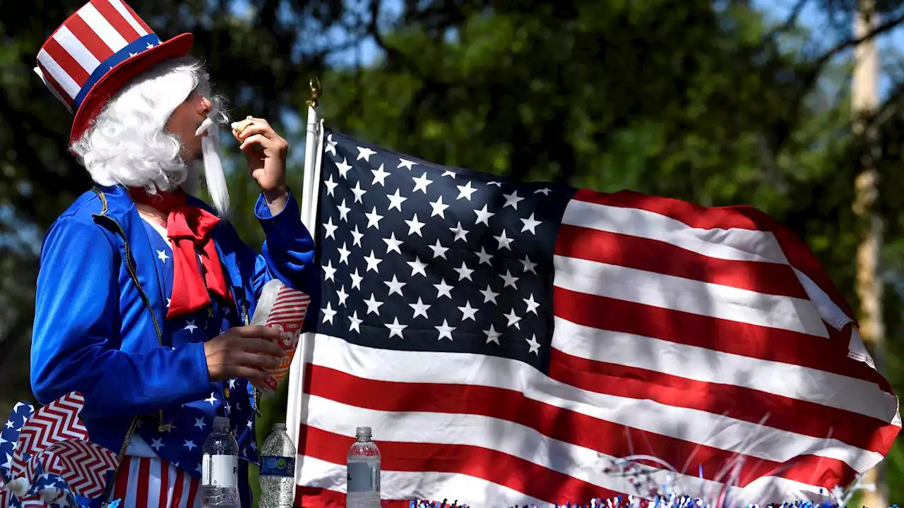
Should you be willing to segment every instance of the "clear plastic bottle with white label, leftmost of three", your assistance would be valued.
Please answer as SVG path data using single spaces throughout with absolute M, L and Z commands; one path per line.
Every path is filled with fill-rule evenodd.
M 229 419 L 213 419 L 213 430 L 204 441 L 201 463 L 203 508 L 239 508 L 239 443 Z

